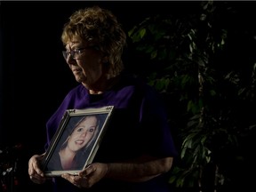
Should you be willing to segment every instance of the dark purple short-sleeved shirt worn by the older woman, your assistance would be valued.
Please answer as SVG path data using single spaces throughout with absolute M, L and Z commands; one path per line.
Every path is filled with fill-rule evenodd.
M 115 87 L 99 95 L 91 95 L 82 84 L 68 92 L 60 107 L 46 124 L 47 148 L 67 109 L 114 106 L 107 132 L 93 162 L 113 163 L 140 155 L 176 156 L 171 130 L 163 103 L 155 90 L 133 76 L 122 75 Z M 163 179 L 163 180 L 162 180 Z M 57 178 L 55 191 L 80 191 L 68 181 Z M 164 177 L 142 183 L 100 180 L 86 191 L 170 191 Z

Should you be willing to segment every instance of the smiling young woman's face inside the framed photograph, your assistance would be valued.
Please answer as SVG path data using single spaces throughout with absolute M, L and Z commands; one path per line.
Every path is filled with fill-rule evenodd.
M 96 116 L 87 116 L 80 124 L 77 124 L 74 132 L 69 137 L 68 148 L 77 151 L 92 140 L 97 127 Z

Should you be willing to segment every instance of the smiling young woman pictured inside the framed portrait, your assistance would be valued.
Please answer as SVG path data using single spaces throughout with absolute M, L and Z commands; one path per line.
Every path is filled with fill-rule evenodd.
M 53 152 L 47 164 L 48 170 L 83 169 L 90 153 L 89 147 L 92 148 L 92 143 L 96 140 L 99 130 L 100 119 L 97 115 L 87 115 L 81 118 L 59 149 Z

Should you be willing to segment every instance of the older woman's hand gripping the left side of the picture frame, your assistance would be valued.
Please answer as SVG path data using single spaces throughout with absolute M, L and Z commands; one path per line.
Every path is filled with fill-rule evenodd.
M 29 179 L 37 184 L 42 184 L 46 180 L 46 177 L 44 176 L 44 172 L 40 168 L 44 155 L 45 153 L 42 155 L 31 156 L 31 158 L 28 161 Z

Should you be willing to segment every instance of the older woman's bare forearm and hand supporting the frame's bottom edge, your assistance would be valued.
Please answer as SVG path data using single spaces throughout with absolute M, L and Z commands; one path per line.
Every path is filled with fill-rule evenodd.
M 156 159 L 149 156 L 124 163 L 101 164 L 93 163 L 78 175 L 63 174 L 62 178 L 69 180 L 78 188 L 91 188 L 103 178 L 142 182 L 155 178 L 172 168 L 172 157 Z

